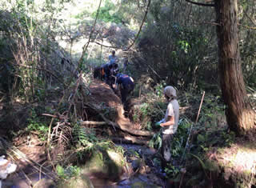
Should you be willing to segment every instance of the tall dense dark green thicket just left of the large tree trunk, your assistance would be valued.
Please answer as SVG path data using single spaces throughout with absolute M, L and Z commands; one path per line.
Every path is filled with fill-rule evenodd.
M 201 22 L 200 17 L 194 21 L 187 19 L 197 10 L 192 7 L 191 11 L 191 6 L 182 1 L 152 2 L 147 25 L 138 41 L 140 57 L 143 57 L 134 57 L 136 65 L 142 68 L 139 70 L 152 72 L 157 82 L 164 79 L 181 88 L 198 87 L 200 80 L 217 84 L 206 75 L 207 71 L 217 71 L 217 50 L 213 51 L 217 42 L 215 31 L 194 24 L 194 21 Z M 204 18 L 210 18 L 212 10 L 201 11 Z M 136 61 L 137 58 L 145 61 Z

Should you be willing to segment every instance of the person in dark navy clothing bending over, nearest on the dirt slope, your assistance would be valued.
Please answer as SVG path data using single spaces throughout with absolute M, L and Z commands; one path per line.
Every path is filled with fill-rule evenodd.
M 128 95 L 134 90 L 134 79 L 126 74 L 117 74 L 116 83 L 120 88 L 122 103 L 126 103 Z

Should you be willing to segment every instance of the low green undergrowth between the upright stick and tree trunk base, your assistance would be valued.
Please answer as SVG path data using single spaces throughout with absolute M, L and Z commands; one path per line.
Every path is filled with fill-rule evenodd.
M 194 154 L 203 154 L 212 146 L 230 146 L 234 142 L 234 132 L 227 134 L 227 125 L 222 125 L 225 106 L 219 99 L 218 96 L 204 99 L 198 124 L 194 125 L 194 131 L 198 133 L 191 148 Z

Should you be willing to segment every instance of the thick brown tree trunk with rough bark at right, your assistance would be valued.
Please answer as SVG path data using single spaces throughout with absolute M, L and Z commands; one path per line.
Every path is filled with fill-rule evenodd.
M 246 94 L 238 43 L 237 0 L 215 0 L 218 34 L 218 71 L 226 120 L 238 135 L 255 132 L 255 113 Z

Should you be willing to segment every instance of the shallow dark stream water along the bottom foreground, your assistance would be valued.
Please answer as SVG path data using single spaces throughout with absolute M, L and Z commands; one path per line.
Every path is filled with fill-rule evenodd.
M 136 173 L 133 176 L 130 176 L 128 173 L 128 171 L 132 172 L 133 167 L 131 163 L 136 160 L 136 158 L 143 158 L 146 161 L 148 158 L 152 158 L 152 156 L 157 153 L 156 150 L 146 146 L 138 146 L 134 144 L 119 144 L 118 146 L 123 147 L 125 154 L 127 155 L 127 162 L 130 163 L 130 165 L 126 166 L 127 171 L 122 174 L 122 177 L 120 177 L 117 182 L 110 181 L 110 179 L 89 176 L 95 188 L 128 188 L 132 186 L 162 187 L 162 185 L 164 185 L 164 180 L 159 178 L 158 174 L 155 174 L 158 167 L 154 166 L 153 163 L 150 165 L 147 164 L 147 167 L 150 168 L 150 172 Z M 129 154 L 134 154 L 134 158 L 128 157 Z M 28 188 L 30 185 L 34 185 L 36 182 L 38 182 L 40 178 L 49 179 L 46 177 L 46 175 L 38 173 L 28 174 L 26 178 L 24 173 L 17 172 L 15 174 L 11 174 L 10 177 L 3 181 L 2 188 Z

